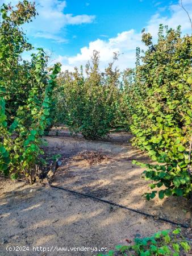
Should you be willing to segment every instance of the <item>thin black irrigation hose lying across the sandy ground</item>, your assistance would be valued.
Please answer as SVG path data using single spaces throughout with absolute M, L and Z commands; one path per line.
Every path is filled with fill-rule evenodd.
M 70 189 L 67 189 L 67 188 L 57 187 L 57 186 L 51 185 L 51 184 L 50 184 L 50 187 L 52 187 L 52 188 L 58 188 L 58 189 L 61 189 L 61 190 L 66 191 L 66 192 L 74 193 L 74 194 L 76 194 L 76 195 L 86 196 L 86 197 L 89 197 L 89 198 L 92 198 L 92 199 L 101 201 L 101 202 L 103 202 L 103 203 L 107 203 L 107 204 L 110 204 L 110 205 L 113 205 L 113 206 L 116 206 L 116 207 L 119 207 L 119 208 L 123 208 L 123 209 L 126 209 L 126 210 L 131 210 L 132 212 L 136 212 L 136 213 L 139 213 L 139 214 L 143 214 L 144 216 L 147 216 L 147 217 L 152 217 L 152 218 L 154 218 L 155 220 L 161 220 L 161 221 L 165 221 L 165 222 L 168 222 L 168 223 L 170 223 L 170 224 L 173 224 L 173 225 L 181 226 L 182 228 L 186 228 L 186 229 L 187 229 L 187 228 L 190 228 L 189 225 L 177 223 L 177 222 L 174 222 L 174 221 L 172 221 L 172 220 L 167 220 L 166 218 L 157 217 L 157 216 L 155 216 L 155 215 L 153 215 L 153 214 L 141 212 L 140 210 L 136 210 L 136 209 L 132 209 L 132 208 L 126 207 L 126 206 L 124 206 L 124 205 L 116 204 L 116 203 L 113 203 L 113 202 L 108 201 L 108 200 L 105 200 L 105 199 L 100 199 L 100 198 L 98 198 L 98 197 L 91 196 L 91 195 L 89 195 L 89 194 L 80 193 L 80 192 L 73 191 L 73 190 L 70 190 Z

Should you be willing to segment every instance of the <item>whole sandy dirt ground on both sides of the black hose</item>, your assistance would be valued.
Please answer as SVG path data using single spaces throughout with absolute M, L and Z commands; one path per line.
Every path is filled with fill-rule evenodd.
M 53 129 L 46 137 L 45 150 L 51 155 L 60 154 L 62 165 L 52 185 L 155 214 L 157 218 L 49 185 L 28 185 L 1 178 L 0 255 L 97 255 L 93 248 L 114 249 L 115 245 L 126 244 L 127 238 L 133 240 L 176 227 L 158 217 L 191 225 L 191 205 L 185 199 L 146 201 L 141 197 L 150 189 L 147 181 L 141 179 L 143 169 L 132 164 L 132 160 L 147 163 L 149 159 L 131 146 L 131 138 L 129 133 L 113 132 L 105 140 L 93 142 L 80 135 L 72 137 L 67 129 Z M 84 157 L 85 150 L 98 152 L 105 158 L 90 163 Z M 191 235 L 190 228 L 183 232 Z M 6 250 L 12 246 L 27 251 Z M 46 251 L 37 251 L 40 246 Z M 91 249 L 71 251 L 70 248 L 82 250 L 83 246 Z M 59 251 L 60 247 L 66 247 L 67 251 Z

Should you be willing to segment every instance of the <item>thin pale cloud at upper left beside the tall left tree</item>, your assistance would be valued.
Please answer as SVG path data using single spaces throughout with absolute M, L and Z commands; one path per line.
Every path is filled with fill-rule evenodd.
M 10 0 L 3 0 L 3 3 L 9 3 Z M 18 0 L 12 0 L 12 5 L 18 3 Z M 36 10 L 39 14 L 32 23 L 24 25 L 27 35 L 52 39 L 63 43 L 66 40 L 61 34 L 64 28 L 69 24 L 78 25 L 91 23 L 95 19 L 94 15 L 73 15 L 65 14 L 66 1 L 64 0 L 36 0 Z

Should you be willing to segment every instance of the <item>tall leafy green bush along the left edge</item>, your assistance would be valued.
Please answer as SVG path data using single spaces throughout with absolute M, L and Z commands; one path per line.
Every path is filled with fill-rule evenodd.
M 31 49 L 20 28 L 35 16 L 35 4 L 1 7 L 0 24 L 0 171 L 15 179 L 22 172 L 32 183 L 35 164 L 44 152 L 42 135 L 51 123 L 52 92 L 60 64 L 47 70 L 43 49 L 22 61 Z

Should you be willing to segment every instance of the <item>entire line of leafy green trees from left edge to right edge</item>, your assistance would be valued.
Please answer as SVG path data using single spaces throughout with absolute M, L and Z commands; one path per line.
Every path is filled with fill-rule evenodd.
M 60 64 L 47 67 L 43 49 L 22 61 L 32 46 L 20 28 L 36 15 L 24 0 L 16 8 L 3 5 L 0 26 L 0 170 L 16 178 L 22 172 L 32 183 L 43 155 L 42 136 L 55 123 L 67 125 L 86 139 L 101 139 L 111 127 L 130 129 L 133 144 L 157 164 L 144 176 L 155 181 L 147 199 L 189 197 L 191 193 L 191 49 L 192 38 L 160 25 L 157 43 L 143 30 L 148 47 L 136 51 L 136 68 L 104 72 L 94 51 L 85 70 L 60 73 Z M 59 74 L 59 75 L 58 75 Z

